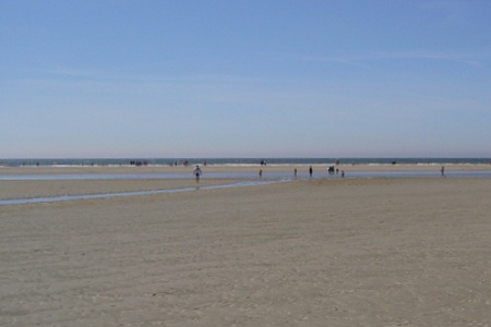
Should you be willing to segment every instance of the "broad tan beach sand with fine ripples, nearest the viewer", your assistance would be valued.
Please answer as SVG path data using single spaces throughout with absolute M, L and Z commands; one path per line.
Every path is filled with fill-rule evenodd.
M 490 198 L 394 178 L 0 206 L 0 326 L 491 326 Z

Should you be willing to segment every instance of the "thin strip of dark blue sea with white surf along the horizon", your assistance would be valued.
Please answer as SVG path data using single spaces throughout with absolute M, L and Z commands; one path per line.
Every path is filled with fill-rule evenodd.
M 491 158 L 58 158 L 0 159 L 0 167 L 21 166 L 166 166 L 166 165 L 491 165 Z

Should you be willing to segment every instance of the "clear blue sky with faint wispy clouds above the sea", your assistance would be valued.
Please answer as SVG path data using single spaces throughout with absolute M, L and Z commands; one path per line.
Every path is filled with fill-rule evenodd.
M 0 0 L 0 158 L 491 157 L 489 0 Z

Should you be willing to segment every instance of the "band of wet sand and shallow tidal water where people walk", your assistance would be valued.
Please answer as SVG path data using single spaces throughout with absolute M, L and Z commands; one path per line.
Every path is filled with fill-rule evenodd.
M 34 198 L 65 197 L 71 201 L 76 196 L 118 197 L 128 193 L 145 192 L 182 192 L 187 189 L 211 186 L 228 187 L 237 183 L 264 182 L 321 182 L 337 184 L 349 183 L 349 180 L 400 180 L 400 179 L 435 179 L 441 178 L 440 167 L 428 166 L 370 166 L 338 165 L 340 173 L 328 174 L 324 165 L 314 166 L 313 178 L 309 178 L 310 165 L 268 165 L 260 166 L 206 166 L 202 167 L 203 177 L 196 183 L 192 175 L 193 167 L 21 167 L 0 168 L 0 201 L 32 201 Z M 298 170 L 298 178 L 294 175 Z M 263 177 L 259 171 L 263 171 Z M 491 167 L 484 165 L 445 166 L 445 173 L 451 179 L 490 179 Z M 3 178 L 2 178 L 3 177 Z M 255 186 L 255 185 L 254 185 Z M 172 191 L 170 191 L 172 190 Z M 121 194 L 121 195 L 118 195 Z

